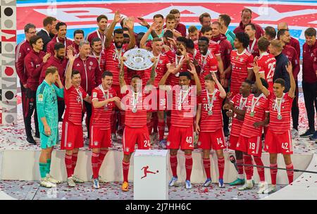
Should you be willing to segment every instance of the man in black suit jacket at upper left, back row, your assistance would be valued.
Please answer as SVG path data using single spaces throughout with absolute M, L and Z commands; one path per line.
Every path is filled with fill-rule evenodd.
M 51 41 L 51 39 L 53 39 L 53 37 L 55 36 L 56 26 L 57 20 L 54 17 L 51 16 L 47 16 L 46 18 L 44 18 L 43 20 L 43 29 L 40 30 L 39 32 L 37 32 L 37 35 L 39 37 L 42 38 L 44 46 L 43 46 L 43 51 L 46 52 L 46 44 L 49 43 L 49 41 Z

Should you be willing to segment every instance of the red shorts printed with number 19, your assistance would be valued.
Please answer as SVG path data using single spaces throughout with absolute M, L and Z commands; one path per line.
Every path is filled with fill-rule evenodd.
M 240 135 L 237 150 L 243 151 L 250 156 L 259 156 L 262 154 L 262 140 L 261 136 L 244 137 Z

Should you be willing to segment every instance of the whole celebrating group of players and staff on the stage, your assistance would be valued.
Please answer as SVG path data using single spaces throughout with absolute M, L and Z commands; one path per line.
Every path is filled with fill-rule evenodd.
M 53 17 L 44 19 L 39 32 L 32 23 L 25 25 L 25 40 L 16 48 L 15 65 L 30 144 L 37 144 L 31 127 L 35 112 L 35 138 L 40 139 L 42 149 L 40 184 L 54 187 L 59 182 L 49 175 L 58 122 L 63 122 L 61 149 L 66 150 L 68 186 L 83 182 L 74 175 L 77 153 L 84 146 L 83 118 L 86 143 L 92 149 L 94 188 L 105 182 L 99 169 L 112 141 L 122 138 L 123 191 L 129 189 L 130 157 L 136 143 L 138 149 L 159 143 L 170 150 L 173 177 L 169 186 L 178 181 L 177 154 L 179 149 L 184 151 L 185 187 L 191 189 L 196 134 L 206 172 L 204 187 L 211 184 L 211 149 L 218 157 L 218 185 L 224 187 L 225 148 L 235 150 L 237 159 L 237 180 L 230 185 L 252 189 L 253 167 L 240 164 L 255 163 L 261 180 L 259 194 L 275 191 L 278 153 L 284 156 L 291 183 L 292 137 L 299 135 L 299 42 L 290 37 L 287 23 L 280 23 L 277 33 L 271 26 L 263 30 L 251 22 L 251 14 L 244 9 L 233 32 L 228 30 L 229 15 L 221 14 L 211 22 L 209 13 L 200 15 L 200 30 L 195 26 L 187 30 L 180 23 L 180 11 L 173 9 L 166 18 L 154 15 L 151 25 L 139 17 L 148 30 L 136 34 L 135 19 L 123 18 L 116 11 L 111 24 L 106 15 L 99 15 L 97 30 L 86 37 L 82 30 L 75 30 L 73 40 L 66 37 L 66 23 Z M 116 28 L 118 23 L 120 28 Z M 309 130 L 301 137 L 316 139 L 316 30 L 306 29 L 305 37 L 302 85 Z M 151 68 L 140 71 L 124 65 L 123 54 L 135 48 L 153 53 Z M 270 153 L 271 185 L 261 168 L 262 148 Z

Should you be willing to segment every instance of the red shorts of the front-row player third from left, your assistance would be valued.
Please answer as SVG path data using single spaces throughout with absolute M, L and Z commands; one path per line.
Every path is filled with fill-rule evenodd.
M 111 129 L 104 130 L 100 127 L 90 127 L 90 149 L 100 149 L 111 147 Z

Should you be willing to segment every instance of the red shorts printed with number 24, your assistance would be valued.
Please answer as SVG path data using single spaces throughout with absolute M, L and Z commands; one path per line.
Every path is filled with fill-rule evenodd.
M 123 153 L 129 155 L 135 151 L 135 143 L 138 149 L 151 149 L 151 142 L 149 138 L 149 130 L 147 125 L 144 127 L 129 127 L 125 125 L 123 132 Z

